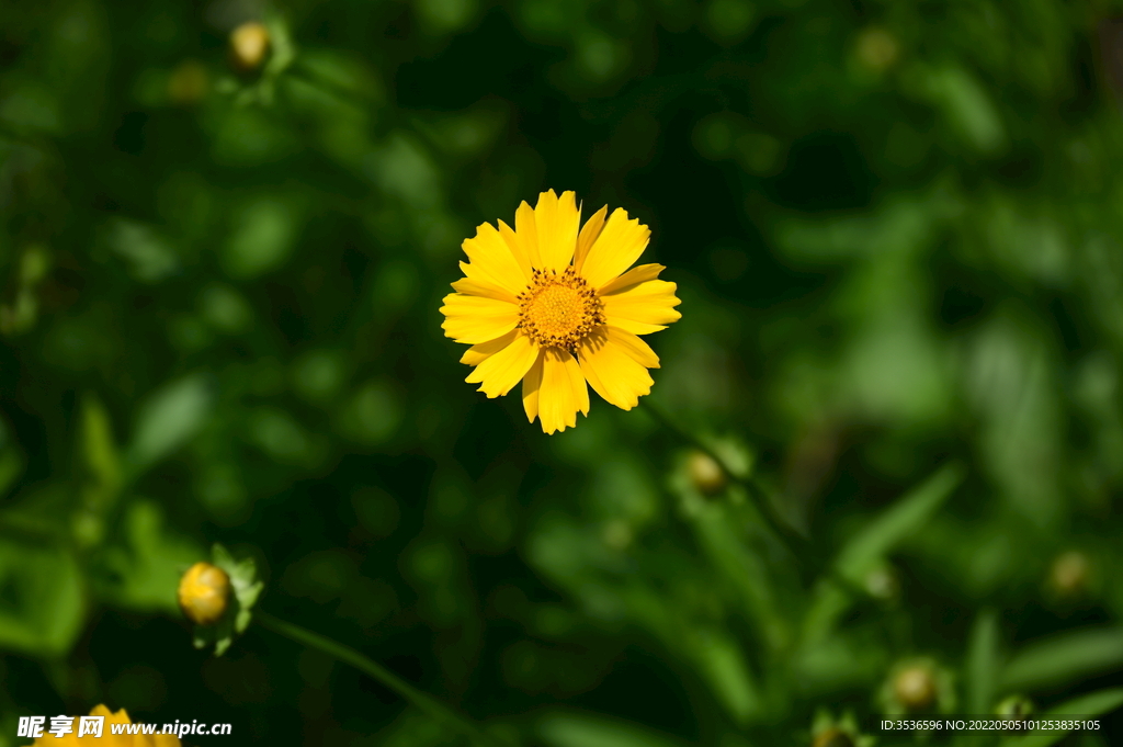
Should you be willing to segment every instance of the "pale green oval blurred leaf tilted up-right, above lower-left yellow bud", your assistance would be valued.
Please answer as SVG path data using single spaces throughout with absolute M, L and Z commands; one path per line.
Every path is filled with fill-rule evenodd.
M 201 375 L 190 375 L 165 385 L 140 409 L 128 463 L 143 472 L 182 446 L 210 415 L 212 398 Z

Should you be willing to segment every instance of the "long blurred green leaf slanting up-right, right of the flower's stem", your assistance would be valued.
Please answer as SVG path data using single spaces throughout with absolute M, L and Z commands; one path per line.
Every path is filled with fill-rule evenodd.
M 871 521 L 839 553 L 839 572 L 856 583 L 913 532 L 923 528 L 962 480 L 962 470 L 947 466 Z

